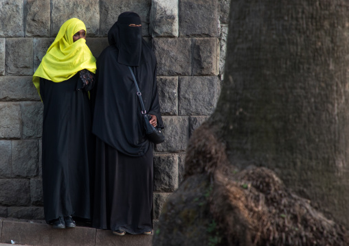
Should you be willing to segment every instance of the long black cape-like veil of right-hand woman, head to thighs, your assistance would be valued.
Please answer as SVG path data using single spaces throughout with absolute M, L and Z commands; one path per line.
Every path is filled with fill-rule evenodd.
M 125 15 L 131 17 L 122 17 Z M 130 32 L 138 28 L 128 27 L 129 24 L 139 25 L 139 22 L 132 19 L 134 16 L 135 13 L 130 12 L 120 14 L 117 23 L 109 30 L 109 47 L 98 56 L 96 85 L 91 91 L 91 102 L 94 105 L 92 132 L 117 151 L 128 156 L 142 156 L 151 144 L 146 138 L 137 90 L 128 65 L 131 65 L 137 78 L 146 112 L 157 116 L 157 126 L 164 127 L 164 123 L 157 93 L 155 54 L 142 37 L 141 47 L 136 49 L 138 38 L 135 38 L 137 45 L 132 47 L 133 42 L 126 42 L 128 34 L 120 33 L 120 19 L 120 25 L 128 23 L 124 27 L 130 29 Z M 139 57 L 132 56 L 131 59 L 125 51 L 137 51 Z M 129 63 L 133 60 L 137 60 L 137 64 Z

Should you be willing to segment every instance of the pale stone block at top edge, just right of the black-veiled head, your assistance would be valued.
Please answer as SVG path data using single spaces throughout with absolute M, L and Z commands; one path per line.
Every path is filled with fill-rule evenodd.
M 178 28 L 178 0 L 153 0 L 150 10 L 152 36 L 177 37 Z

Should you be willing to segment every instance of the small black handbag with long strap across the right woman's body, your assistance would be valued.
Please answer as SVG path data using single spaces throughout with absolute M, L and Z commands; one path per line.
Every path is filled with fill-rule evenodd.
M 161 127 L 154 127 L 152 124 L 150 124 L 149 121 L 151 119 L 151 116 L 146 113 L 146 109 L 144 108 L 142 93 L 139 91 L 139 87 L 137 84 L 137 80 L 135 78 L 135 74 L 133 73 L 131 66 L 128 66 L 128 69 L 131 71 L 131 75 L 133 77 L 133 82 L 135 82 L 135 86 L 137 89 L 137 96 L 139 99 L 139 103 L 141 104 L 143 126 L 144 126 L 144 129 L 146 130 L 146 137 L 148 138 L 148 140 L 150 140 L 151 142 L 153 142 L 155 144 L 162 143 L 165 140 L 165 136 L 161 132 Z

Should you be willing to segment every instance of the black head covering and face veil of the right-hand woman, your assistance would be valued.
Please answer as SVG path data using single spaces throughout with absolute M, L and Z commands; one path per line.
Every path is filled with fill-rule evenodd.
M 128 25 L 141 25 L 141 23 L 138 14 L 124 12 L 109 30 L 109 45 L 116 45 L 119 49 L 117 62 L 127 66 L 139 66 L 142 54 L 142 27 Z

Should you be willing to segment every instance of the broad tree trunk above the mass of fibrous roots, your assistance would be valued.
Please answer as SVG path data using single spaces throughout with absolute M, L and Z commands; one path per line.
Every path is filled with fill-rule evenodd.
M 209 119 L 229 162 L 275 171 L 349 225 L 349 1 L 232 0 Z

